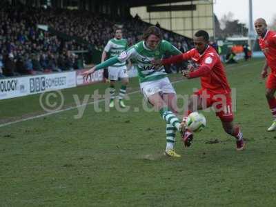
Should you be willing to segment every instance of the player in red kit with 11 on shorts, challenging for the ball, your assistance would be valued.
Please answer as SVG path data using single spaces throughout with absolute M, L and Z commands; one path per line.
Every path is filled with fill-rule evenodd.
M 193 60 L 199 66 L 197 70 L 183 72 L 184 77 L 193 79 L 200 77 L 201 89 L 194 93 L 188 100 L 188 110 L 184 112 L 186 117 L 195 110 L 209 107 L 215 109 L 217 117 L 229 135 L 236 138 L 237 150 L 244 150 L 245 142 L 239 126 L 233 123 L 233 111 L 231 90 L 226 79 L 226 72 L 216 50 L 209 46 L 209 34 L 204 30 L 195 33 L 195 48 L 181 55 L 168 59 L 155 60 L 155 64 L 179 63 L 188 59 Z M 193 133 L 186 130 L 183 134 L 184 146 L 190 146 L 193 141 Z

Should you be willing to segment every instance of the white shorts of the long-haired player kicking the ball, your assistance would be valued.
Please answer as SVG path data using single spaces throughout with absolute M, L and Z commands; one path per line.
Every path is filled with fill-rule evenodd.
M 157 92 L 161 95 L 164 93 L 176 93 L 175 88 L 173 88 L 168 77 L 164 77 L 157 81 L 146 81 L 140 83 L 140 88 L 146 99 Z

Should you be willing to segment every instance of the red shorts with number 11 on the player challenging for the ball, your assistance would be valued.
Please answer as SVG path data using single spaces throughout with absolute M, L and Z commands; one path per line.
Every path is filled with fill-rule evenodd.
M 233 121 L 234 115 L 232 111 L 232 99 L 230 93 L 214 95 L 213 92 L 201 89 L 194 94 L 199 96 L 203 109 L 213 107 L 217 117 L 219 117 L 221 121 Z

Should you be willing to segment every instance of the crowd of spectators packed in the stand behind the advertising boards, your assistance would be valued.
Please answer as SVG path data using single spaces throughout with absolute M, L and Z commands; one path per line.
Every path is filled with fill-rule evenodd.
M 14 7 L 8 3 L 3 6 L 3 3 L 5 1 L 0 8 L 0 78 L 83 68 L 82 55 L 72 51 L 88 50 L 88 45 L 102 50 L 114 37 L 112 30 L 116 24 L 123 27 L 124 37 L 132 45 L 149 26 L 139 17 L 115 19 L 88 11 Z M 39 24 L 71 38 L 64 39 L 41 30 L 37 27 Z M 184 37 L 172 32 L 164 30 L 164 39 L 175 46 L 189 47 Z

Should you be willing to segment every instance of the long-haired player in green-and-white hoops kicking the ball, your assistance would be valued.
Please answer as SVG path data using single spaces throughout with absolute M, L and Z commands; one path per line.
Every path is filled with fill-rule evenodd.
M 117 57 L 112 57 L 103 63 L 83 72 L 83 77 L 88 77 L 96 70 L 100 70 L 115 63 L 123 63 L 127 59 L 135 61 L 138 70 L 141 92 L 148 102 L 159 110 L 161 117 L 166 121 L 166 155 L 170 157 L 180 157 L 175 150 L 175 132 L 181 131 L 184 126 L 175 116 L 177 113 L 177 103 L 175 89 L 172 87 L 170 80 L 166 77 L 164 66 L 155 68 L 152 66 L 153 59 L 161 59 L 165 53 L 168 55 L 179 55 L 177 50 L 168 41 L 162 40 L 161 31 L 156 26 L 150 26 L 143 35 L 144 41 L 140 41 L 121 52 Z

